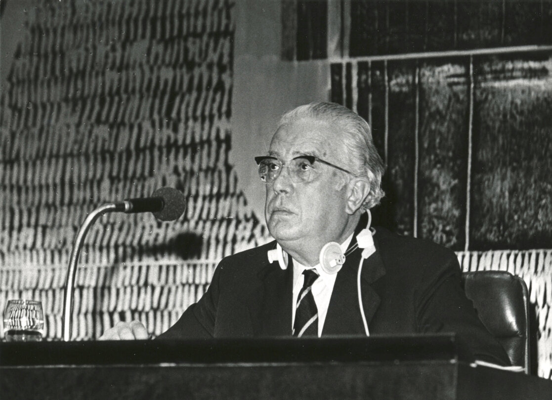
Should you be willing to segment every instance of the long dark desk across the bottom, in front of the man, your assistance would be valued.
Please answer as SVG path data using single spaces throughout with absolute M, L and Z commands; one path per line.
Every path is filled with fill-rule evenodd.
M 2 398 L 550 399 L 453 335 L 0 344 Z

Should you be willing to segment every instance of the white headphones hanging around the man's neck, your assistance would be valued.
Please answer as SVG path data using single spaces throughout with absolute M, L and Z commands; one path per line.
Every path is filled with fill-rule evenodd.
M 364 249 L 362 252 L 361 262 L 375 252 L 374 238 L 372 237 L 375 230 L 370 228 L 372 216 L 370 214 L 370 210 L 367 210 L 367 212 L 368 224 L 362 231 L 359 232 L 359 234 L 357 234 L 357 243 L 355 243 L 353 247 L 347 251 L 347 253 L 343 253 L 341 246 L 339 246 L 339 243 L 337 242 L 329 242 L 322 247 L 319 255 L 320 268 L 322 271 L 327 274 L 337 274 L 345 263 L 347 255 L 351 254 L 357 248 Z M 269 263 L 272 264 L 275 261 L 278 261 L 280 268 L 284 270 L 288 268 L 289 255 L 282 249 L 279 243 L 276 244 L 275 249 L 268 250 L 267 256 Z

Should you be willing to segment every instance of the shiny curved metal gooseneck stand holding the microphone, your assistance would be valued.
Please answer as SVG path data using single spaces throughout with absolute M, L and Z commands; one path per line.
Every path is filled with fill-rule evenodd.
M 92 211 L 81 225 L 78 230 L 75 244 L 71 250 L 71 258 L 69 260 L 69 266 L 67 268 L 67 275 L 65 276 L 65 294 L 63 296 L 63 341 L 68 342 L 71 340 L 71 312 L 73 303 L 73 286 L 75 285 L 75 275 L 77 273 L 78 258 L 81 255 L 82 245 L 84 243 L 84 237 L 88 233 L 88 230 L 92 224 L 98 219 L 100 215 L 105 215 L 107 212 L 120 212 L 125 211 L 125 205 L 121 203 L 107 203 L 99 206 Z

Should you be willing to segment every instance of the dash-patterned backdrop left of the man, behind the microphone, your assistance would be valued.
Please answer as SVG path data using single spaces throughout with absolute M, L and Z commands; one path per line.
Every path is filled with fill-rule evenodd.
M 188 201 L 177 222 L 95 223 L 73 310 L 76 339 L 134 318 L 159 334 L 203 294 L 217 260 L 267 237 L 228 162 L 234 4 L 36 5 L 1 98 L 0 310 L 42 300 L 46 337 L 61 338 L 65 269 L 88 212 L 174 186 Z

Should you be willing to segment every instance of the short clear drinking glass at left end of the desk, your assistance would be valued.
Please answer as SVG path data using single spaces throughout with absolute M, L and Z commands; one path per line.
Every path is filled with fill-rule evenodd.
M 8 342 L 39 342 L 44 334 L 42 303 L 8 300 L 4 310 L 4 336 Z

